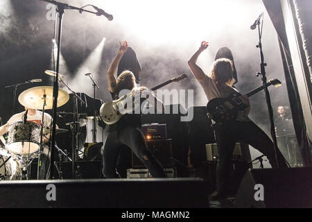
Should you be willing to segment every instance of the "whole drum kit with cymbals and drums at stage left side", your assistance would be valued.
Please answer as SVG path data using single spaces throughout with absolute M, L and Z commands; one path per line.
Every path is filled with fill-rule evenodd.
M 49 76 L 55 76 L 54 71 L 45 71 Z M 92 77 L 89 76 L 91 79 Z M 80 99 L 75 92 L 73 92 L 69 86 L 64 83 L 62 80 L 64 75 L 59 74 L 59 81 L 62 82 L 69 91 L 72 92 L 73 103 L 77 103 L 78 99 L 82 103 L 87 103 L 87 101 L 83 101 Z M 95 87 L 98 87 L 94 80 L 92 79 L 94 86 L 94 100 L 95 99 Z M 89 96 L 87 96 L 89 97 Z M 67 101 L 69 101 L 69 94 L 63 89 L 58 90 L 58 101 L 57 107 L 61 107 Z M 91 98 L 91 97 L 90 97 Z M 0 136 L 0 141 L 4 145 L 1 147 L 0 143 L 0 180 L 28 180 L 31 177 L 31 166 L 33 165 L 33 160 L 37 159 L 37 179 L 40 175 L 40 168 L 42 168 L 42 162 L 40 158 L 42 154 L 46 154 L 44 152 L 44 147 L 47 147 L 44 144 L 45 140 L 50 138 L 51 135 L 51 127 L 48 124 L 44 124 L 44 112 L 45 110 L 53 109 L 53 87 L 51 86 L 39 86 L 32 87 L 30 89 L 26 89 L 24 92 L 21 92 L 18 97 L 18 101 L 21 105 L 24 105 L 27 109 L 33 110 L 42 110 L 42 121 L 41 124 L 38 124 L 33 121 L 27 121 L 27 112 L 21 118 L 24 121 L 16 121 L 11 123 L 8 126 L 8 136 L 6 139 L 3 136 Z M 86 104 L 87 105 L 87 104 Z M 101 104 L 100 104 L 101 105 Z M 96 110 L 98 105 L 94 105 Z M 94 111 L 94 110 L 93 110 Z M 58 116 L 62 117 L 62 115 L 71 115 L 72 117 L 77 117 L 78 121 L 73 121 L 66 123 L 66 126 L 70 126 L 69 129 L 65 128 L 56 128 L 55 134 L 64 134 L 67 135 L 69 131 L 71 131 L 71 139 L 73 149 L 73 153 L 71 153 L 71 157 L 67 155 L 67 152 L 63 151 L 55 144 L 55 151 L 57 151 L 58 159 L 61 162 L 69 161 L 78 163 L 78 159 L 80 160 L 95 160 L 96 157 L 101 155 L 101 148 L 103 146 L 103 128 L 99 126 L 98 122 L 100 121 L 96 116 L 96 112 L 94 112 L 94 116 L 88 117 L 87 113 L 78 114 L 78 109 L 73 108 L 73 112 L 58 112 Z M 83 118 L 82 118 L 83 117 Z M 76 126 L 78 125 L 78 127 Z M 75 133 L 76 132 L 76 133 Z M 97 134 L 96 134 L 97 132 Z M 79 138 L 80 135 L 83 135 L 83 139 Z M 79 141 L 79 142 L 78 142 Z M 80 147 L 81 142 L 83 141 L 83 146 Z M 100 143 L 96 141 L 102 141 Z M 78 147 L 79 146 L 79 147 Z M 93 147 L 93 148 L 92 148 Z M 49 154 L 51 155 L 49 149 Z M 62 178 L 62 172 L 60 172 L 60 163 L 59 166 L 54 162 L 55 168 L 59 173 L 59 178 Z M 49 172 L 44 172 L 44 178 L 49 177 Z M 75 172 L 76 173 L 76 172 Z M 73 172 L 74 174 L 74 172 Z M 73 176 L 73 178 L 75 178 Z

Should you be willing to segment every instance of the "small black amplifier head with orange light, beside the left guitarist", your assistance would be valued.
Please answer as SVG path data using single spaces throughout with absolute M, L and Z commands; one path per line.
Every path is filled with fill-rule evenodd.
M 146 140 L 167 139 L 166 123 L 151 123 L 141 126 L 141 130 Z

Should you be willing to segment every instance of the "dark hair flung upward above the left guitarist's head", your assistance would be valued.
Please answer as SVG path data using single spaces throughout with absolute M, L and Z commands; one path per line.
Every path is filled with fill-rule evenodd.
M 119 62 L 117 76 L 121 75 L 125 70 L 131 71 L 132 74 L 135 75 L 136 83 L 139 83 L 139 72 L 142 71 L 142 69 L 139 60 L 137 59 L 137 54 L 131 47 L 128 47 Z

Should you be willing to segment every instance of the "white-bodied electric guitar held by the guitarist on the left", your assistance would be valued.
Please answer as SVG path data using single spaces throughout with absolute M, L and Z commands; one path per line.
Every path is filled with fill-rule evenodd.
M 165 85 L 168 85 L 169 83 L 173 82 L 180 82 L 180 80 L 183 80 L 184 78 L 187 78 L 186 74 L 182 74 L 181 76 L 177 78 L 171 78 L 169 80 L 166 80 L 166 82 L 161 83 L 153 88 L 151 88 L 151 91 L 154 91 L 156 89 L 159 89 L 160 87 L 163 87 Z M 121 119 L 121 117 L 128 113 L 136 110 L 141 103 L 136 103 L 134 102 L 133 105 L 131 105 L 130 108 L 126 108 L 127 102 L 132 101 L 133 99 L 133 94 L 132 92 L 125 94 L 124 96 L 121 96 L 121 98 L 110 101 L 107 103 L 103 103 L 100 108 L 100 117 L 101 119 L 108 125 L 114 124 Z M 123 108 L 123 112 L 121 113 L 119 111 L 119 108 Z

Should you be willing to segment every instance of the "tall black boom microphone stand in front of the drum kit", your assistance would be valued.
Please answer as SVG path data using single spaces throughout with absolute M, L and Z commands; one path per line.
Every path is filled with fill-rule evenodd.
M 67 3 L 60 3 L 58 1 L 52 0 L 40 0 L 45 1 L 47 3 L 51 3 L 56 6 L 56 12 L 58 13 L 59 23 L 58 23 L 58 53 L 56 58 L 56 74 L 54 77 L 53 83 L 53 124 L 52 124 L 52 137 L 51 137 L 51 178 L 53 178 L 53 147 L 55 146 L 55 128 L 56 128 L 56 118 L 57 118 L 57 108 L 58 108 L 58 74 L 60 71 L 60 48 L 61 48 L 61 40 L 62 40 L 62 19 L 65 12 L 65 9 L 73 9 L 78 10 L 80 13 L 89 12 L 94 15 L 98 15 L 97 12 L 92 12 L 89 10 L 85 10 L 83 8 L 77 8 L 74 6 L 69 6 Z M 56 28 L 56 26 L 55 26 Z M 77 97 L 76 97 L 77 98 Z M 74 162 L 74 161 L 73 161 Z M 74 167 L 74 164 L 73 164 Z

